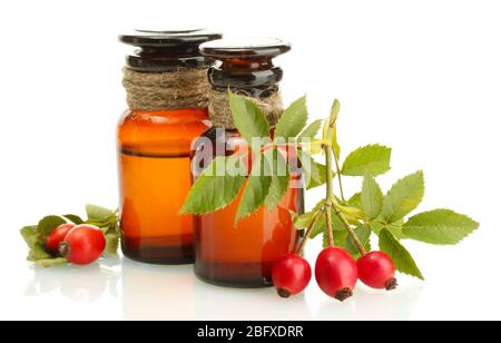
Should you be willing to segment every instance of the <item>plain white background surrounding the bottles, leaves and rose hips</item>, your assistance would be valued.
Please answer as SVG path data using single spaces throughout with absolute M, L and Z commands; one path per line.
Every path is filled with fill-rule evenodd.
M 501 318 L 500 18 L 495 0 L 0 1 L 0 318 Z M 117 35 L 186 27 L 289 40 L 294 50 L 279 60 L 287 101 L 307 92 L 322 118 L 340 98 L 345 153 L 392 146 L 384 187 L 424 169 L 420 209 L 466 213 L 481 229 L 456 247 L 407 244 L 425 283 L 401 277 L 390 294 L 361 286 L 344 304 L 314 284 L 291 301 L 213 287 L 190 267 L 30 266 L 21 226 L 117 204 L 128 51 Z

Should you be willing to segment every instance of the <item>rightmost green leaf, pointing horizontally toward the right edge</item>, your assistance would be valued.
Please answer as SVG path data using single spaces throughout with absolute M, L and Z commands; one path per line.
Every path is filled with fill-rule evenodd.
M 403 226 L 406 237 L 436 245 L 455 245 L 479 228 L 479 223 L 449 209 L 413 216 Z

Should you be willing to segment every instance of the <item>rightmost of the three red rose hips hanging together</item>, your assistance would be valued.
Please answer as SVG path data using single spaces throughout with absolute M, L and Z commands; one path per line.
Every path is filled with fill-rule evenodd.
M 367 286 L 375 290 L 395 290 L 395 265 L 385 253 L 372 252 L 356 263 L 358 277 Z

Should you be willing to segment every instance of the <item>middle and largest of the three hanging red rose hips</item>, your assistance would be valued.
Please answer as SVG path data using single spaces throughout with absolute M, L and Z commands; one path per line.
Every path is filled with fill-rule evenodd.
M 353 296 L 358 272 L 355 261 L 347 252 L 328 247 L 316 259 L 315 276 L 325 294 L 344 302 Z

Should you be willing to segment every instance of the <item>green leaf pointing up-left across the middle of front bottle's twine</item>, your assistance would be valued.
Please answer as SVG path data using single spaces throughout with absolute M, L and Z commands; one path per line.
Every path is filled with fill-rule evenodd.
M 253 138 L 269 138 L 269 122 L 263 109 L 246 97 L 229 91 L 229 106 L 232 107 L 235 127 L 252 148 Z M 263 146 L 264 143 L 259 145 Z

